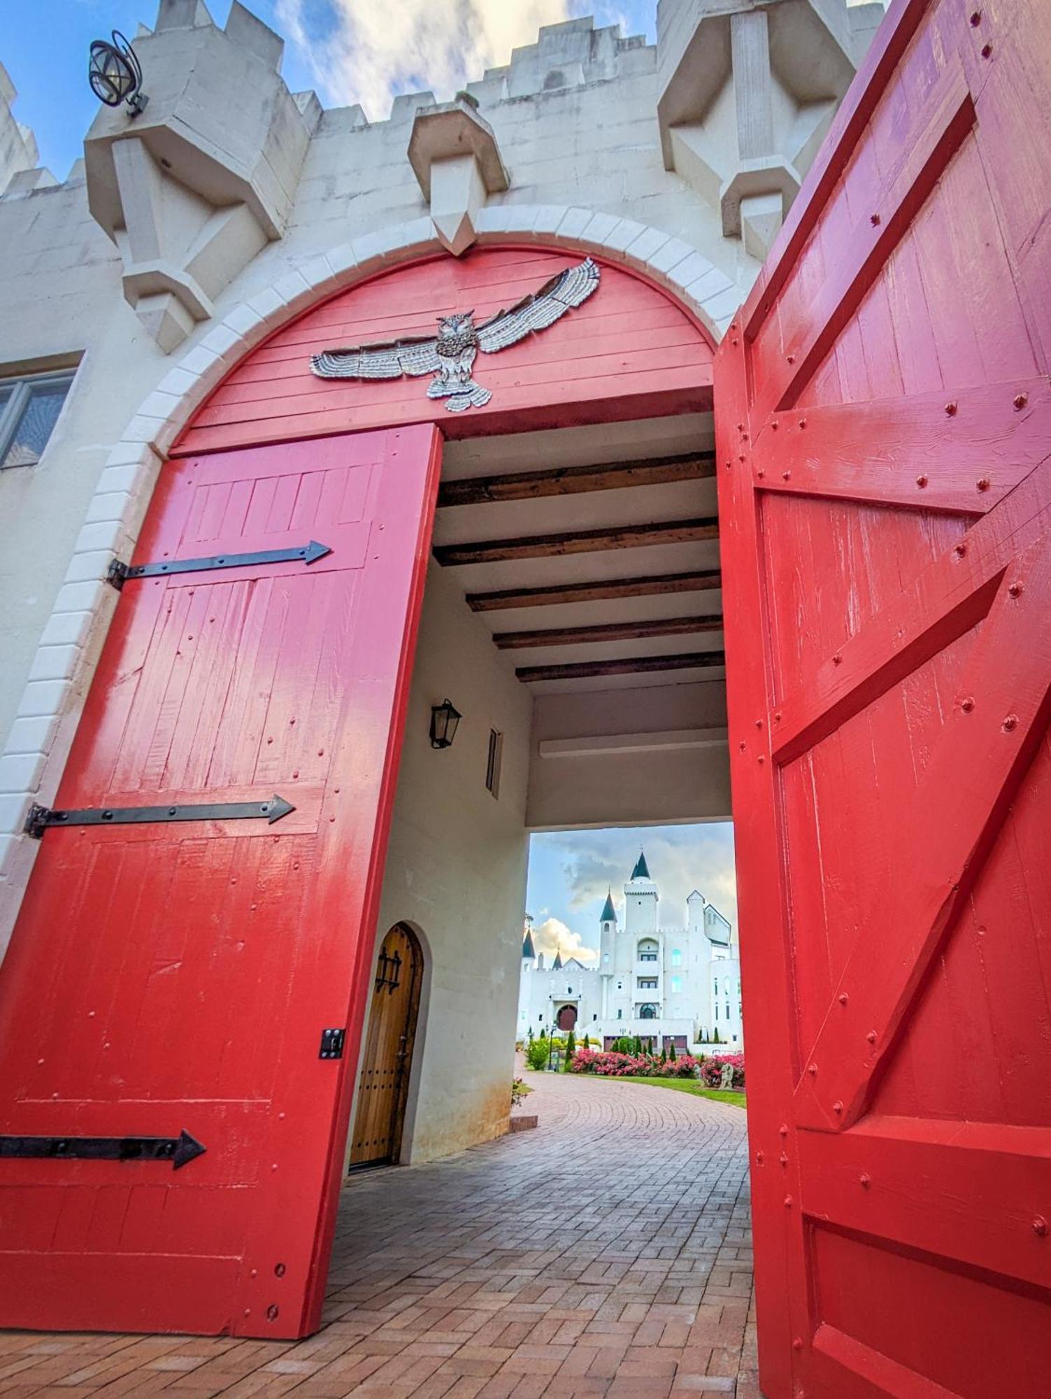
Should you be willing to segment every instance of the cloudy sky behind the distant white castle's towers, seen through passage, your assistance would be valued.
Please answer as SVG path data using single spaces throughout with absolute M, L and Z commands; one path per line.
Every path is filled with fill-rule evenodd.
M 665 926 L 686 921 L 686 895 L 697 888 L 737 926 L 734 828 L 653 825 L 629 831 L 556 831 L 534 835 L 526 908 L 532 915 L 537 951 L 553 957 L 558 947 L 584 963 L 598 954 L 598 919 L 607 890 L 623 912 L 623 883 L 639 851 L 646 851 Z

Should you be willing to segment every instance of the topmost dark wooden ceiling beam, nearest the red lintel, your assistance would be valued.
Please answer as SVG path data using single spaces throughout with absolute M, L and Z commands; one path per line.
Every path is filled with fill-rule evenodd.
M 439 509 L 444 509 L 453 505 L 538 501 L 552 495 L 579 495 L 584 491 L 619 491 L 636 485 L 700 481 L 714 474 L 716 457 L 711 452 L 640 457 L 635 462 L 600 462 L 594 466 L 556 466 L 538 471 L 442 481 L 437 505 Z

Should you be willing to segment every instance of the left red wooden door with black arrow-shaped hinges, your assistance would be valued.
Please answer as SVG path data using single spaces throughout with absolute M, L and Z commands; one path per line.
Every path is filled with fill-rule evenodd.
M 437 488 L 429 427 L 169 462 L 57 807 L 266 820 L 48 830 L 0 971 L 0 1133 L 177 1137 L 0 1160 L 0 1323 L 317 1326 Z M 347 1028 L 347 1058 L 319 1058 Z

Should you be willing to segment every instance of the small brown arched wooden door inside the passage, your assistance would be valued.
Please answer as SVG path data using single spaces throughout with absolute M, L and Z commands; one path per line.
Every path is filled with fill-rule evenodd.
M 422 981 L 419 940 L 411 928 L 396 923 L 376 958 L 351 1137 L 352 1170 L 387 1165 L 401 1151 Z

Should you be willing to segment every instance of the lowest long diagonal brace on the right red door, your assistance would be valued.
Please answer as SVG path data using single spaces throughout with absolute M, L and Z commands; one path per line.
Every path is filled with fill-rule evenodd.
M 1051 534 L 1010 568 L 1010 582 L 1001 583 L 962 690 L 974 706 L 949 715 L 914 796 L 899 814 L 903 873 L 880 909 L 880 937 L 855 943 L 806 1055 L 795 1091 L 804 1126 L 843 1130 L 864 1111 L 874 1074 L 1045 736 L 1050 611 Z M 953 793 L 952 810 L 946 792 Z M 917 851 L 924 851 L 921 862 Z

